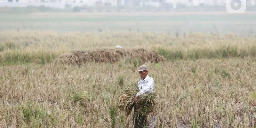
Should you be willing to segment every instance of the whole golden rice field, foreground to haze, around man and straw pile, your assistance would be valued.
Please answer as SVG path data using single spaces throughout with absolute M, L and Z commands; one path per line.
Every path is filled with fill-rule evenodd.
M 53 14 L 43 13 L 43 17 L 47 15 Z M 91 21 L 77 22 L 74 26 L 78 28 L 73 31 L 67 20 L 49 24 L 46 20 L 1 22 L 5 23 L 0 24 L 0 127 L 133 127 L 131 116 L 126 118 L 116 105 L 123 87 L 140 80 L 136 72 L 140 65 L 148 66 L 159 100 L 155 113 L 148 116 L 149 127 L 256 127 L 256 36 L 253 31 L 246 36 L 243 33 L 253 28 L 253 20 L 233 22 L 229 30 L 239 29 L 232 32 L 236 34 L 227 34 L 225 28 L 221 28 L 222 32 L 218 31 L 220 28 L 208 29 L 211 32 L 198 28 L 198 32 L 182 31 L 178 35 L 176 30 L 156 32 L 147 27 L 144 31 L 125 28 L 100 32 L 98 22 Z M 103 22 L 106 21 L 99 21 Z M 113 26 L 134 25 L 133 21 L 111 22 Z M 143 21 L 146 26 L 161 22 L 162 26 L 174 23 L 163 19 Z M 84 23 L 97 29 L 79 31 L 79 25 Z M 234 28 L 235 24 L 240 27 Z M 40 30 L 51 25 L 51 31 Z M 67 26 L 69 31 L 54 28 L 58 25 Z M 17 26 L 28 28 L 17 31 Z M 189 26 L 193 25 L 184 28 L 188 30 Z M 54 63 L 71 51 L 113 49 L 116 45 L 156 51 L 167 61 L 151 63 L 126 58 L 114 63 Z

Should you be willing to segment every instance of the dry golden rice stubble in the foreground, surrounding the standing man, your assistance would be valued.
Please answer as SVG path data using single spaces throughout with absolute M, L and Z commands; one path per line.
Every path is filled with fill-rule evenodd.
M 182 60 L 146 65 L 156 81 L 154 90 L 163 100 L 163 108 L 156 115 L 157 125 L 162 117 L 161 121 L 171 122 L 172 127 L 179 120 L 189 123 L 192 118 L 200 125 L 215 125 L 218 121 L 225 127 L 255 126 L 249 124 L 256 121 L 255 59 Z M 119 67 L 95 63 L 81 68 L 52 64 L 1 67 L 1 126 L 14 123 L 24 127 L 25 118 L 18 105 L 32 100 L 36 105 L 32 110 L 36 109 L 38 115 L 45 114 L 31 116 L 29 125 L 73 127 L 79 125 L 80 114 L 84 127 L 110 127 L 108 101 L 104 98 L 117 98 L 119 75 L 124 75 L 127 84 L 140 80 L 134 72 L 136 68 L 132 64 Z M 72 104 L 73 99 L 69 99 L 79 91 L 92 97 L 83 106 Z M 173 106 L 183 91 L 188 91 L 188 97 Z M 122 115 L 117 116 L 119 126 L 125 125 L 121 124 Z

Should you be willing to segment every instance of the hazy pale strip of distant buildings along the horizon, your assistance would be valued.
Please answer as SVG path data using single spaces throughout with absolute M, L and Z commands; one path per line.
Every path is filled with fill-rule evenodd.
M 256 0 L 246 0 L 247 4 L 255 5 Z M 66 4 L 74 6 L 184 6 L 222 5 L 226 0 L 0 0 L 0 7 L 49 6 L 65 8 Z M 162 4 L 164 3 L 164 4 Z

